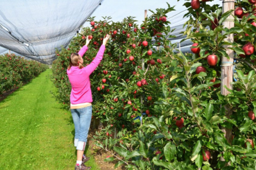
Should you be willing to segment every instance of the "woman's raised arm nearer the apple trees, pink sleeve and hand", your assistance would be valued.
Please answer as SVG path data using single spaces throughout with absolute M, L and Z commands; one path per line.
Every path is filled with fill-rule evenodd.
M 105 45 L 107 44 L 109 37 L 110 36 L 107 34 L 106 37 L 103 39 L 103 43 L 100 46 L 95 59 L 93 59 L 93 61 L 89 65 L 87 65 L 85 68 L 83 68 L 85 70 L 86 74 L 89 74 L 89 75 L 92 74 L 92 72 L 97 68 L 97 66 L 101 62 L 101 60 L 103 58 L 104 51 L 105 51 Z

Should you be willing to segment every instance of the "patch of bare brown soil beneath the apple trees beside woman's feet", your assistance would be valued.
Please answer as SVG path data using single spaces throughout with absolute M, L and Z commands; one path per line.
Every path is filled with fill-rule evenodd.
M 90 129 L 88 134 L 89 148 L 94 156 L 96 164 L 99 165 L 101 170 L 125 170 L 124 166 L 114 168 L 118 161 L 104 161 L 110 154 L 102 148 L 96 146 L 93 141 L 93 135 L 95 135 L 95 129 Z

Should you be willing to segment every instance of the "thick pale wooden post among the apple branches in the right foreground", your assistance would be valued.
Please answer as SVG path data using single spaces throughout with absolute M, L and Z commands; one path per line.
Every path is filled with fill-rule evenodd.
M 235 0 L 223 0 L 222 1 L 222 13 L 227 12 L 231 9 L 234 10 L 235 8 Z M 234 11 L 233 11 L 234 15 Z M 230 14 L 230 16 L 222 23 L 222 25 L 226 28 L 233 28 L 234 27 L 234 17 Z M 227 35 L 226 41 L 233 42 L 234 41 L 234 35 L 229 34 Z M 226 49 L 227 54 L 229 55 L 230 59 L 227 57 L 221 58 L 221 94 L 224 96 L 227 96 L 229 94 L 229 91 L 224 86 L 227 86 L 229 89 L 233 89 L 233 86 L 230 84 L 233 82 L 233 58 L 234 53 L 233 50 L 229 49 L 228 47 L 231 47 L 231 45 L 224 45 L 224 48 Z M 225 113 L 227 118 L 230 117 L 232 114 L 232 111 L 227 106 L 224 106 Z M 225 134 L 225 138 L 227 139 L 227 142 L 231 144 L 232 142 L 232 129 L 228 129 L 223 127 L 222 131 Z

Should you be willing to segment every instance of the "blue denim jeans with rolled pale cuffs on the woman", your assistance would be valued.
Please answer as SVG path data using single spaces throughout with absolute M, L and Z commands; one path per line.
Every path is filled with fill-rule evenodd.
M 92 106 L 71 109 L 71 114 L 75 125 L 74 146 L 76 150 L 84 150 L 92 118 Z

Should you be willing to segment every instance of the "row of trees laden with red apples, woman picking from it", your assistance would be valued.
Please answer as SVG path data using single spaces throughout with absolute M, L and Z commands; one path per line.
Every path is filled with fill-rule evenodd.
M 187 0 L 186 39 L 191 39 L 191 53 L 175 53 L 176 44 L 167 36 L 172 32 L 167 14 L 174 7 L 152 11 L 141 26 L 134 17 L 122 22 L 105 17 L 89 18 L 90 28 L 83 28 L 52 65 L 52 80 L 59 89 L 56 98 L 69 108 L 70 83 L 66 75 L 68 59 L 92 39 L 84 56 L 89 64 L 102 44 L 105 34 L 112 39 L 106 45 L 102 62 L 91 74 L 93 118 L 104 128 L 94 136 L 97 145 L 109 152 L 105 161 L 117 160 L 116 167 L 127 169 L 236 169 L 254 168 L 256 73 L 254 51 L 247 55 L 245 44 L 254 45 L 256 29 L 246 17 L 235 16 L 235 27 L 221 23 L 232 11 L 222 13 L 218 5 L 199 1 L 194 8 Z M 237 1 L 250 11 L 250 3 Z M 247 12 L 244 11 L 244 12 Z M 250 20 L 254 20 L 250 14 Z M 209 29 L 210 28 L 210 29 Z M 222 32 L 226 32 L 222 34 Z M 244 33 L 249 34 L 245 36 Z M 236 42 L 224 41 L 236 34 Z M 220 94 L 221 57 L 228 57 L 223 45 L 232 45 L 236 57 L 237 81 L 228 96 Z M 250 50 L 249 50 L 250 51 Z M 249 65 L 248 65 L 249 63 Z M 226 116 L 225 108 L 232 108 Z M 232 129 L 232 142 L 222 127 Z

